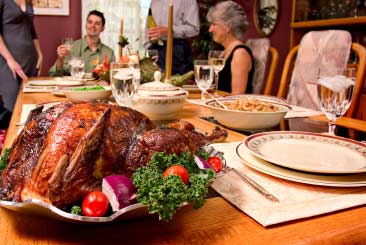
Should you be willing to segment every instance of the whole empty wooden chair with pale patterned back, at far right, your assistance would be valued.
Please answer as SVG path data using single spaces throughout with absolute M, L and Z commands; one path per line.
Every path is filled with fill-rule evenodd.
M 323 60 L 329 61 L 329 62 L 334 62 L 334 63 L 331 63 L 330 65 L 342 64 L 342 62 L 343 62 L 343 65 L 346 66 L 347 61 L 348 61 L 348 54 L 352 50 L 358 58 L 358 63 L 355 65 L 356 69 L 357 69 L 356 83 L 355 83 L 352 103 L 344 118 L 356 118 L 356 116 L 357 116 L 356 114 L 358 111 L 360 98 L 361 98 L 361 94 L 362 94 L 364 78 L 365 78 L 366 49 L 360 44 L 352 43 L 351 36 L 346 31 L 331 30 L 331 31 L 322 31 L 322 32 L 324 32 L 324 33 L 321 33 L 321 31 L 313 32 L 313 33 L 315 33 L 315 37 L 311 37 L 311 38 L 309 38 L 309 36 L 306 37 L 306 38 L 308 38 L 308 40 L 307 40 L 308 44 L 309 43 L 316 44 L 317 42 L 319 43 L 320 42 L 319 40 L 321 40 L 322 35 L 324 35 L 326 37 L 325 38 L 326 41 L 324 41 L 323 43 L 320 42 L 320 46 L 325 47 L 324 50 L 321 50 L 321 52 L 316 51 L 316 55 L 318 55 L 318 57 L 312 58 L 312 54 L 313 54 L 313 52 L 315 52 L 314 50 L 319 49 L 319 47 L 310 47 L 310 49 L 308 47 L 308 49 L 307 49 L 308 52 L 304 52 L 304 50 L 306 51 L 306 49 L 299 51 L 302 48 L 302 46 L 301 46 L 301 45 L 303 45 L 302 42 L 300 43 L 300 45 L 295 46 L 294 48 L 292 48 L 290 50 L 290 52 L 287 55 L 287 58 L 285 60 L 285 63 L 284 63 L 284 68 L 283 68 L 277 96 L 287 98 L 289 103 L 291 103 L 291 104 L 297 104 L 297 103 L 293 103 L 293 101 L 291 101 L 291 99 L 289 100 L 290 86 L 292 86 L 292 92 L 295 90 L 299 91 L 300 97 L 309 91 L 306 91 L 303 93 L 302 91 L 306 90 L 305 86 L 296 87 L 294 85 L 291 85 L 291 82 L 295 81 L 296 79 L 298 79 L 298 80 L 303 79 L 302 82 L 309 82 L 309 84 L 315 83 L 315 85 L 316 85 L 316 78 L 314 78 L 314 76 L 317 77 L 317 74 L 316 75 L 314 74 L 314 70 L 318 69 L 317 71 L 319 71 L 319 68 L 321 67 L 320 65 L 323 65 L 323 67 L 324 67 L 324 64 L 322 63 Z M 337 36 L 338 34 L 340 34 L 340 37 Z M 332 38 L 329 38 L 330 35 L 334 35 L 334 36 Z M 333 40 L 336 40 L 335 42 L 338 42 L 338 44 L 331 43 Z M 345 45 L 343 45 L 343 44 L 345 44 Z M 330 48 L 330 53 L 335 51 L 336 52 L 335 54 L 332 53 L 331 55 L 329 55 L 329 53 L 327 53 L 327 49 L 329 50 L 329 47 L 328 47 L 329 45 L 333 45 L 333 47 Z M 338 47 L 337 45 L 340 47 Z M 341 49 L 343 51 L 339 51 Z M 345 52 L 345 51 L 347 51 L 347 52 Z M 305 58 L 308 58 L 311 61 L 314 61 L 314 64 L 312 65 L 309 62 L 308 63 L 299 62 L 299 60 L 298 60 L 299 52 L 302 52 L 302 56 L 300 55 L 301 57 L 304 57 L 304 54 L 305 54 Z M 339 52 L 339 53 L 337 53 L 337 52 Z M 341 57 L 341 59 L 343 59 L 343 60 L 341 60 L 341 61 L 337 60 L 339 57 Z M 336 61 L 334 61 L 334 60 L 336 60 Z M 298 72 L 298 71 L 296 71 L 296 65 L 302 66 L 301 75 L 293 74 L 294 71 L 295 71 L 295 73 Z M 304 66 L 306 66 L 305 69 L 304 69 Z M 313 76 L 314 81 L 306 81 L 306 78 L 309 79 L 309 77 L 311 77 L 311 75 L 309 75 L 308 73 L 312 73 L 312 72 L 313 72 L 312 76 Z M 298 82 L 298 81 L 295 81 L 295 82 Z M 316 86 L 315 86 L 315 88 L 316 88 Z M 316 90 L 315 90 L 315 92 L 314 92 L 314 90 L 312 90 L 312 91 L 313 91 L 313 93 L 315 93 L 315 96 L 316 96 Z M 303 93 L 303 94 L 301 94 L 301 93 Z M 294 95 L 294 93 L 292 95 Z M 304 99 L 303 98 L 299 99 L 300 103 L 302 103 L 301 102 L 302 100 L 304 100 Z M 302 104 L 297 104 L 297 105 L 304 106 Z M 307 106 L 304 106 L 304 107 L 307 107 Z M 309 108 L 311 108 L 311 107 L 309 107 Z M 319 105 L 317 105 L 315 108 L 313 107 L 312 109 L 319 109 Z M 312 117 L 311 121 L 313 121 L 315 123 L 315 121 L 327 121 L 327 119 L 325 118 L 325 116 L 320 116 L 320 117 L 314 117 L 314 118 Z M 336 124 L 339 126 L 346 126 L 347 128 L 349 128 L 350 129 L 349 136 L 351 138 L 356 138 L 356 136 L 357 136 L 356 131 L 364 131 L 364 128 L 363 128 L 364 125 L 361 125 L 360 128 L 355 128 L 359 124 L 352 124 L 350 126 L 350 125 L 348 125 L 349 124 L 348 122 L 346 124 L 344 124 L 343 121 L 344 120 L 337 120 Z

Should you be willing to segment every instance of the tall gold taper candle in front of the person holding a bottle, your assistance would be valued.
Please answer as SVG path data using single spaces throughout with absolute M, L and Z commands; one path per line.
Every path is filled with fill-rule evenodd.
M 169 4 L 168 17 L 168 40 L 165 57 L 165 82 L 170 82 L 172 75 L 172 56 L 173 56 L 173 3 Z

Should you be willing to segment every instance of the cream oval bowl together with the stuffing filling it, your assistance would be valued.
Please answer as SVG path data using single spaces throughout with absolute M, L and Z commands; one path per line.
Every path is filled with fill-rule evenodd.
M 241 131 L 272 128 L 290 109 L 285 103 L 253 96 L 211 100 L 206 105 L 220 124 Z

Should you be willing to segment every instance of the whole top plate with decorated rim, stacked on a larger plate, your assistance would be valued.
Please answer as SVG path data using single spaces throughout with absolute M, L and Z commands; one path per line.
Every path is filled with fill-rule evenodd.
M 295 170 L 326 174 L 366 172 L 366 145 L 338 136 L 265 132 L 247 137 L 244 144 L 255 156 Z

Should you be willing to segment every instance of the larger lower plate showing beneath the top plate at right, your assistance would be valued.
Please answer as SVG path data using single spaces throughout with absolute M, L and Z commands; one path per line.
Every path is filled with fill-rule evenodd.
M 256 169 L 259 172 L 278 177 L 285 180 L 290 180 L 299 183 L 332 186 L 332 187 L 360 187 L 366 186 L 366 173 L 345 174 L 345 175 L 327 175 L 327 174 L 312 174 L 299 172 L 287 168 L 283 168 L 263 159 L 260 159 L 250 153 L 250 150 L 240 143 L 236 147 L 236 154 L 241 162 L 250 168 Z

